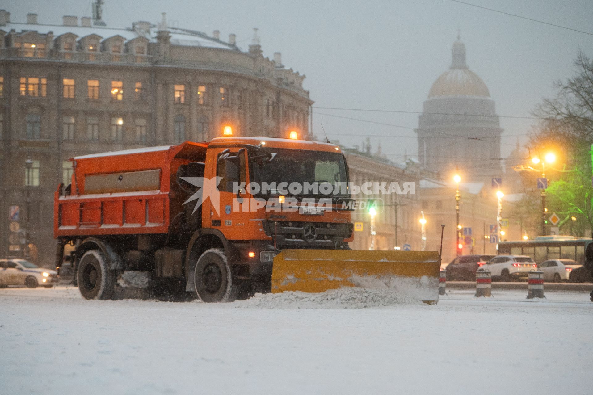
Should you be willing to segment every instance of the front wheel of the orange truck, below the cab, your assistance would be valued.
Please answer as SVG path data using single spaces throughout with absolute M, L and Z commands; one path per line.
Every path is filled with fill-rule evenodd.
M 232 302 L 239 286 L 233 283 L 231 266 L 222 249 L 209 249 L 197 259 L 194 272 L 197 297 L 203 302 Z

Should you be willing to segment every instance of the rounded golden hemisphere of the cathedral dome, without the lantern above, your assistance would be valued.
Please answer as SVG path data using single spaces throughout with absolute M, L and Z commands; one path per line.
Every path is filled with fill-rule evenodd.
M 468 69 L 445 71 L 432 84 L 428 98 L 447 96 L 483 96 L 490 97 L 490 92 L 476 73 Z

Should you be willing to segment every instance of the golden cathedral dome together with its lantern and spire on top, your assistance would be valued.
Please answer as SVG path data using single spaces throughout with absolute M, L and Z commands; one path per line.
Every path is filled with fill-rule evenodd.
M 476 73 L 466 64 L 466 46 L 459 40 L 453 43 L 452 63 L 448 71 L 436 79 L 428 93 L 428 98 L 451 96 L 490 97 L 490 92 Z

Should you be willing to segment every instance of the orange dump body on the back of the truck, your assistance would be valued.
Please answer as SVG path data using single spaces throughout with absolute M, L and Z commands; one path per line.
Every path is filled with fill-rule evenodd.
M 203 161 L 206 146 L 185 142 L 75 157 L 70 193 L 55 193 L 55 237 L 167 233 L 183 203 L 171 181 L 180 165 Z

